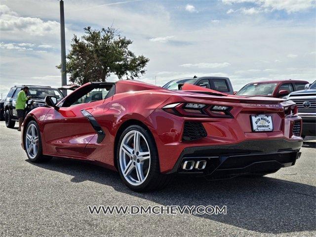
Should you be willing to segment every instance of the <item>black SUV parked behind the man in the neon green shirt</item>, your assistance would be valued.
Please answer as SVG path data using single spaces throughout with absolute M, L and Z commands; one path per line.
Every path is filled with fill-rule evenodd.
M 18 121 L 17 113 L 15 110 L 16 99 L 18 93 L 23 89 L 24 86 L 30 88 L 27 96 L 32 96 L 32 98 L 27 101 L 25 108 L 25 115 L 27 115 L 31 110 L 45 106 L 45 97 L 55 96 L 58 101 L 64 98 L 63 93 L 59 89 L 51 88 L 50 86 L 40 86 L 40 85 L 15 85 L 13 86 L 4 100 L 4 119 L 5 125 L 9 128 L 13 128 L 15 122 Z

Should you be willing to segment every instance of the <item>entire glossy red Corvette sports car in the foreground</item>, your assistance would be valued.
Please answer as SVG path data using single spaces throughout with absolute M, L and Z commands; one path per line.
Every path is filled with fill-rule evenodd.
M 158 189 L 171 174 L 209 178 L 265 175 L 294 165 L 303 143 L 292 101 L 238 97 L 191 84 L 171 91 L 134 80 L 92 82 L 24 120 L 32 162 L 93 161 L 118 170 L 134 191 Z

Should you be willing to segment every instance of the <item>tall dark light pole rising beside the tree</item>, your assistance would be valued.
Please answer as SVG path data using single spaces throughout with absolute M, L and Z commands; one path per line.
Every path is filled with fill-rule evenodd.
M 61 45 L 61 85 L 67 85 L 66 74 L 66 42 L 65 42 L 65 17 L 64 17 L 64 1 L 59 1 L 60 7 L 60 45 Z M 67 95 L 67 90 L 63 90 L 63 94 Z

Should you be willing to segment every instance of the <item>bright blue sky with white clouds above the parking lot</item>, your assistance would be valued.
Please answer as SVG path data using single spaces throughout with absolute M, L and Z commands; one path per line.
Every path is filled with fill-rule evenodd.
M 86 26 L 113 24 L 150 58 L 141 80 L 316 79 L 315 0 L 64 0 L 66 47 Z M 60 85 L 59 2 L 0 0 L 0 93 Z M 111 77 L 109 80 L 115 80 Z

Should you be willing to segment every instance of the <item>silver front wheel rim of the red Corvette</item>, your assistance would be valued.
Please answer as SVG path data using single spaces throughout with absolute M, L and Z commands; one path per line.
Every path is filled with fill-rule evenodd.
M 25 148 L 30 158 L 35 158 L 39 152 L 39 132 L 34 124 L 30 124 L 25 133 Z

